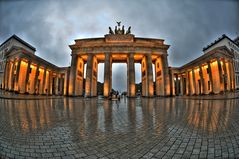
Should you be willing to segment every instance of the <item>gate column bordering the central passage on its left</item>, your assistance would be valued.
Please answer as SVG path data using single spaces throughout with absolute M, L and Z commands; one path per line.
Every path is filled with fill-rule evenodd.
M 105 54 L 104 66 L 104 97 L 108 97 L 112 87 L 112 58 L 109 53 Z

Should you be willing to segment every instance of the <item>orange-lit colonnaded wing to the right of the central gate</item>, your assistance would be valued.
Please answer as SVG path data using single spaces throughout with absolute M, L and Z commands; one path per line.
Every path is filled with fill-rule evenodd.
M 216 57 L 180 73 L 172 70 L 173 94 L 201 95 L 218 94 L 235 89 L 233 62 Z

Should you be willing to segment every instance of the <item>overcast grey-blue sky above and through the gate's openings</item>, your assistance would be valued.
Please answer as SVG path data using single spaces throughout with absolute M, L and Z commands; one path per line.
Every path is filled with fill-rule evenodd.
M 169 65 L 176 67 L 202 55 L 202 48 L 222 34 L 232 39 L 239 34 L 239 1 L 0 0 L 0 43 L 16 34 L 33 45 L 38 56 L 68 66 L 68 45 L 74 39 L 102 37 L 115 21 L 132 26 L 136 37 L 165 39 L 171 45 Z M 99 72 L 102 69 L 99 65 Z M 136 72 L 139 82 L 140 65 Z M 126 65 L 113 65 L 114 88 L 125 90 L 125 79 Z

